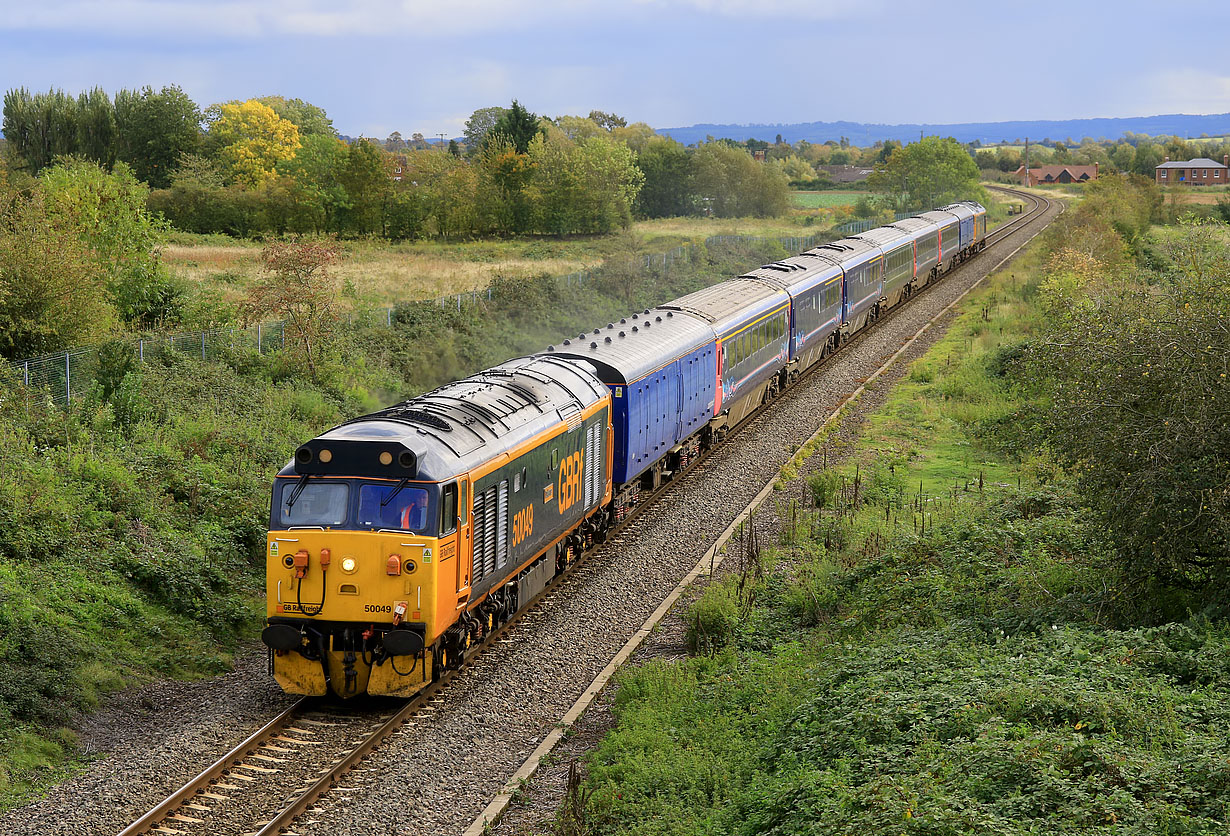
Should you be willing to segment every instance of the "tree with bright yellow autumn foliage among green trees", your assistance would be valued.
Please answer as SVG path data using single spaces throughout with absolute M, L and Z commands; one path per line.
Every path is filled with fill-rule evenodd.
M 219 156 L 236 183 L 257 188 L 277 176 L 276 166 L 299 150 L 299 128 L 255 98 L 209 108 L 216 118 L 209 127 Z

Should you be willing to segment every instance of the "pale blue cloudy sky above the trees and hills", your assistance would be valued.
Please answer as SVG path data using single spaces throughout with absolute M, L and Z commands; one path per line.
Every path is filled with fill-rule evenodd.
M 656 128 L 1230 112 L 1225 0 L 0 4 L 5 90 L 178 84 L 202 107 L 277 93 L 381 139 L 459 135 L 514 97 Z

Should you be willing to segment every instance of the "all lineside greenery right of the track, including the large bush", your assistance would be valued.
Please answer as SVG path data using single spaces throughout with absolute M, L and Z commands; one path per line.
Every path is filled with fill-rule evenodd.
M 557 832 L 1225 832 L 1226 230 L 1086 189 L 621 675 Z

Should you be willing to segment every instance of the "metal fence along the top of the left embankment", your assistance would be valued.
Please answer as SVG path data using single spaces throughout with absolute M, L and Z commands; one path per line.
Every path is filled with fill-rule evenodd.
M 831 237 L 831 236 L 827 236 Z M 827 240 L 824 237 L 823 240 Z M 749 246 L 776 241 L 788 252 L 811 250 L 822 241 L 819 235 L 801 237 L 760 237 L 750 235 L 716 235 L 705 240 L 705 247 Z M 643 267 L 647 270 L 668 272 L 672 266 L 695 258 L 696 247 L 691 243 L 668 250 L 663 253 L 645 256 Z M 583 285 L 590 282 L 595 270 L 584 269 L 558 277 L 565 286 Z M 467 305 L 480 305 L 491 301 L 491 288 L 469 293 L 451 294 L 433 300 L 419 300 L 440 306 L 455 306 L 458 310 Z M 391 327 L 396 307 L 389 306 L 373 311 L 353 311 L 346 315 L 346 322 L 355 325 L 383 323 Z M 198 357 L 202 360 L 218 359 L 223 352 L 250 350 L 269 354 L 280 350 L 287 344 L 287 328 L 283 322 L 262 322 L 248 328 L 214 328 L 210 331 L 191 331 L 137 341 L 134 352 L 139 363 L 154 357 L 159 350 L 181 352 Z M 17 379 L 26 385 L 31 396 L 46 391 L 47 397 L 57 406 L 71 406 L 84 398 L 93 387 L 100 370 L 98 347 L 74 348 L 66 352 L 18 360 L 9 364 Z

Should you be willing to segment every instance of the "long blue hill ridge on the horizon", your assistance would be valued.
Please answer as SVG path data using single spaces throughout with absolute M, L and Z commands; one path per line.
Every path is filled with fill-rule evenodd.
M 980 140 L 984 145 L 1014 140 L 1023 140 L 1028 136 L 1032 141 L 1043 139 L 1066 140 L 1071 138 L 1080 141 L 1084 136 L 1093 139 L 1118 139 L 1124 133 L 1159 134 L 1186 136 L 1194 139 L 1200 134 L 1209 136 L 1221 136 L 1230 134 L 1230 113 L 1215 113 L 1212 116 L 1188 116 L 1184 113 L 1170 113 L 1166 116 L 1139 116 L 1116 119 L 1063 119 L 1063 120 L 1032 120 L 1032 122 L 967 122 L 950 125 L 930 124 L 903 124 L 884 125 L 867 124 L 863 122 L 804 122 L 798 124 L 753 124 L 753 125 L 713 125 L 700 124 L 689 128 L 662 128 L 659 134 L 665 134 L 678 141 L 691 145 L 704 141 L 706 136 L 718 139 L 761 139 L 771 143 L 777 134 L 787 143 L 797 143 L 806 139 L 809 143 L 824 143 L 828 140 L 840 140 L 843 136 L 852 145 L 875 145 L 879 140 L 895 139 L 905 143 L 919 138 L 919 134 L 927 136 L 952 136 L 962 143 Z

